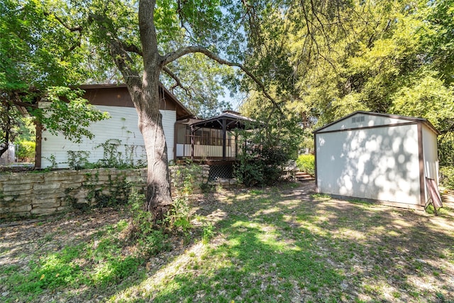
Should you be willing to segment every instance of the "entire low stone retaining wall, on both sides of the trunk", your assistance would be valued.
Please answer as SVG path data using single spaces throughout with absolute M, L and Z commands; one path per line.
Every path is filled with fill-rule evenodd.
M 208 182 L 209 165 L 170 166 L 172 195 L 204 184 L 229 187 L 236 180 Z M 146 169 L 58 170 L 0 175 L 0 219 L 41 216 L 94 205 L 126 202 L 131 187 L 143 192 Z

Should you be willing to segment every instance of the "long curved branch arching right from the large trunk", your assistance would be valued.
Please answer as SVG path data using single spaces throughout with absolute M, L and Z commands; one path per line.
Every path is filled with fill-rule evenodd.
M 257 84 L 258 87 L 260 87 L 260 89 L 262 90 L 262 94 L 264 94 L 265 97 L 267 97 L 267 99 L 269 99 L 272 102 L 272 104 L 275 106 L 275 108 L 277 110 L 279 110 L 279 113 L 283 114 L 282 110 L 279 107 L 279 104 L 277 104 L 277 101 L 274 98 L 272 98 L 270 96 L 270 94 L 268 94 L 267 89 L 265 88 L 265 85 L 263 85 L 262 82 L 260 82 L 260 79 L 258 79 L 258 77 L 255 77 L 255 75 L 253 75 L 253 73 L 250 72 L 250 70 L 248 70 L 244 65 L 242 65 L 240 63 L 224 60 L 221 57 L 219 57 L 218 55 L 216 55 L 215 53 L 212 53 L 211 51 L 207 50 L 204 47 L 187 46 L 185 48 L 180 48 L 179 50 L 176 50 L 173 53 L 169 53 L 165 57 L 163 57 L 162 66 L 165 66 L 165 65 L 169 64 L 170 62 L 177 60 L 179 57 L 182 57 L 189 53 L 201 53 L 201 54 L 206 55 L 206 57 L 209 57 L 211 60 L 218 62 L 219 64 L 228 65 L 231 67 L 239 67 L 240 70 L 242 70 L 246 75 L 248 75 L 250 77 L 250 79 L 253 79 L 255 84 Z

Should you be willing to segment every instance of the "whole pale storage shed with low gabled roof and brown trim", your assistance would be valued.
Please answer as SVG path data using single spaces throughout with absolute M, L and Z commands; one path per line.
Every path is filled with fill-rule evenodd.
M 426 119 L 356 111 L 314 131 L 316 192 L 423 209 L 438 184 L 438 131 Z

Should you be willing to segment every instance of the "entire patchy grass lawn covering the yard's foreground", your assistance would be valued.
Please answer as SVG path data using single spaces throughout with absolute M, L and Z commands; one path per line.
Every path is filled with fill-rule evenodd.
M 0 302 L 454 302 L 454 202 L 440 216 L 314 194 L 205 194 L 146 257 L 127 213 L 0 228 Z

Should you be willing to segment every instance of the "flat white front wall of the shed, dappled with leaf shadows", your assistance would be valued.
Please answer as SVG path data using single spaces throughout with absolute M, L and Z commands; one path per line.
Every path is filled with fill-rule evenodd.
M 316 133 L 316 165 L 319 192 L 420 204 L 416 124 Z

